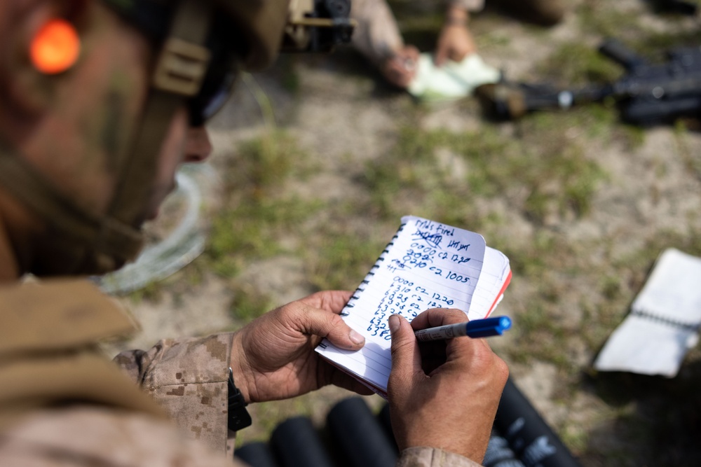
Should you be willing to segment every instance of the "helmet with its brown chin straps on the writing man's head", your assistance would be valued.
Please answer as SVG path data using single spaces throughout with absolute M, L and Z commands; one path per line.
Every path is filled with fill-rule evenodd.
M 150 90 L 130 150 L 109 160 L 116 188 L 106 213 L 63 193 L 0 141 L 0 185 L 50 232 L 25 265 L 37 275 L 100 274 L 137 255 L 144 204 L 172 116 L 186 106 L 191 125 L 201 125 L 229 95 L 240 69 L 271 64 L 288 6 L 287 0 L 102 1 L 153 44 Z

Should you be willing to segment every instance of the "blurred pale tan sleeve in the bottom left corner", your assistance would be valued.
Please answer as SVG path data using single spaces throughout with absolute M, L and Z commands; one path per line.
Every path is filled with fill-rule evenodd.
M 107 407 L 36 411 L 0 433 L 2 466 L 243 467 L 167 421 Z

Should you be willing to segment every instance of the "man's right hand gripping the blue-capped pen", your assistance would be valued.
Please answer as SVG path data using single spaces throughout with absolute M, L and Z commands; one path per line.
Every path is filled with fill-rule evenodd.
M 477 322 L 481 320 L 474 320 Z M 388 384 L 390 417 L 400 449 L 440 446 L 482 460 L 501 391 L 506 364 L 486 339 L 448 339 L 419 345 L 418 330 L 462 326 L 458 309 L 429 309 L 411 323 L 389 317 L 392 369 Z

